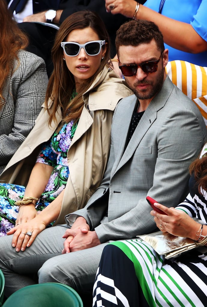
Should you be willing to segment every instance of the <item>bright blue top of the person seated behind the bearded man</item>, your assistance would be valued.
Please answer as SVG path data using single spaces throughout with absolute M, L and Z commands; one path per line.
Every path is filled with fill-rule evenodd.
M 147 0 L 144 6 L 158 12 L 161 0 Z M 161 14 L 192 25 L 193 29 L 207 41 L 207 0 L 165 0 Z M 185 35 L 185 33 L 183 33 Z M 200 66 L 207 66 L 207 51 L 193 54 L 169 49 L 169 60 L 184 60 Z

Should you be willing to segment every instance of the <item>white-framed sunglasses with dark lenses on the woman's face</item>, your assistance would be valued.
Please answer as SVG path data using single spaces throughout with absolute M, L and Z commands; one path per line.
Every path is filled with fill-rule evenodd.
M 105 45 L 104 41 L 88 41 L 86 44 L 78 44 L 71 41 L 66 41 L 60 44 L 67 56 L 77 56 L 83 48 L 89 56 L 96 56 L 100 53 L 101 47 Z

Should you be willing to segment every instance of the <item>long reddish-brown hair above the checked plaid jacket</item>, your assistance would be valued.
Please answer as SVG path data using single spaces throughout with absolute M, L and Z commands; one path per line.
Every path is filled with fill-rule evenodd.
M 2 91 L 5 79 L 13 70 L 13 61 L 18 59 L 19 49 L 24 49 L 28 45 L 28 38 L 18 28 L 13 20 L 13 15 L 7 9 L 5 0 L 0 1 L 0 100 L 3 99 Z M 1 103 L 0 103 L 1 108 Z

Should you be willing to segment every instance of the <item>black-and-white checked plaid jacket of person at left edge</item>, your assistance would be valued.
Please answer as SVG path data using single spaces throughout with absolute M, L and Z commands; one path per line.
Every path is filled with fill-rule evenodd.
M 45 100 L 45 62 L 25 50 L 14 60 L 0 100 L 0 174 L 33 128 Z

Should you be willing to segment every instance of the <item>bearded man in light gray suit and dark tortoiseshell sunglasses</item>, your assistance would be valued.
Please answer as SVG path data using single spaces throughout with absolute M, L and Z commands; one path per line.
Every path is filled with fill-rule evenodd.
M 38 226 L 24 226 L 22 232 L 32 235 L 20 236 L 18 243 L 15 235 L 13 240 L 1 238 L 6 296 L 35 283 L 26 274 L 38 270 L 40 283 L 63 282 L 79 292 L 91 291 L 109 240 L 155 230 L 146 196 L 170 207 L 187 194 L 189 164 L 207 136 L 203 118 L 166 76 L 168 50 L 153 22 L 122 25 L 116 46 L 122 73 L 135 95 L 122 99 L 115 110 L 102 184 L 85 208 L 66 216 L 67 225 L 41 233 Z

